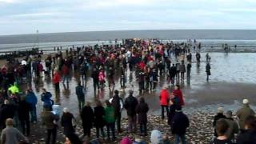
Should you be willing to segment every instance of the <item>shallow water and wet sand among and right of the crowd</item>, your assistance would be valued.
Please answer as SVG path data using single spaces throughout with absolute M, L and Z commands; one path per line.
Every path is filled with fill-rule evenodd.
M 193 54 L 194 56 L 194 54 Z M 218 106 L 224 106 L 226 109 L 236 110 L 240 106 L 243 98 L 248 98 L 251 105 L 255 106 L 256 98 L 254 98 L 256 86 L 256 54 L 254 53 L 210 53 L 211 76 L 210 82 L 206 82 L 205 72 L 205 53 L 202 53 L 202 62 L 197 67 L 195 59 L 192 61 L 191 81 L 190 85 L 182 84 L 182 90 L 186 99 L 185 110 L 188 112 L 197 110 L 215 111 Z M 172 60 L 174 62 L 174 59 Z M 61 107 L 68 107 L 72 113 L 78 114 L 78 100 L 75 94 L 75 86 L 78 82 L 78 74 L 72 74 L 68 85 L 60 84 L 60 94 L 54 93 L 54 86 L 50 78 L 43 77 L 32 81 L 32 88 L 38 95 L 38 113 L 42 111 L 42 102 L 40 94 L 42 87 L 53 94 L 54 101 L 59 103 Z M 115 74 L 116 86 L 114 90 L 121 90 L 119 84 L 118 71 Z M 130 89 L 134 90 L 134 96 L 143 96 L 149 103 L 150 112 L 159 113 L 159 93 L 162 86 L 166 85 L 166 78 L 161 77 L 156 91 L 138 94 L 138 82 L 134 78 L 134 72 L 127 71 L 126 89 L 121 91 L 122 97 L 126 97 L 126 92 Z M 22 86 L 26 87 L 26 86 Z M 89 78 L 86 84 L 86 101 L 94 102 L 95 98 L 105 100 L 111 97 L 108 86 L 104 90 L 99 90 L 94 94 L 93 82 Z M 255 110 L 255 107 L 254 107 Z

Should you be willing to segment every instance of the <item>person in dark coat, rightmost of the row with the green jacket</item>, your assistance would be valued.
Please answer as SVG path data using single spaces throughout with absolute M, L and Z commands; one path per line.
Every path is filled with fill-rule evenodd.
M 139 103 L 136 106 L 136 113 L 138 114 L 138 123 L 140 125 L 140 133 L 141 135 L 146 136 L 146 123 L 147 123 L 147 115 L 146 113 L 149 111 L 149 106 L 145 102 L 144 98 L 139 99 Z

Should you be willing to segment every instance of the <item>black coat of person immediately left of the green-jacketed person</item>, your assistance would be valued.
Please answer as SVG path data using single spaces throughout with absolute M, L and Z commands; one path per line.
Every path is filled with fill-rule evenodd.
M 102 127 L 105 126 L 106 122 L 104 120 L 105 109 L 103 106 L 94 107 L 94 126 Z

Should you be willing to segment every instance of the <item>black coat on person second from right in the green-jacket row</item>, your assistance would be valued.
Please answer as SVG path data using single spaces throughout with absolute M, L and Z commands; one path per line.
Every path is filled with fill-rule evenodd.
M 128 98 L 126 98 L 126 101 L 124 103 L 124 107 L 127 110 L 127 115 L 128 116 L 134 116 L 136 115 L 136 106 L 138 105 L 138 100 L 137 98 L 134 98 L 134 96 L 129 95 Z

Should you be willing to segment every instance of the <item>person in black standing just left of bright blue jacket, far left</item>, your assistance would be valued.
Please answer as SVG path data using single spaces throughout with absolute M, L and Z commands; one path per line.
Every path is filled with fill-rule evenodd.
M 30 135 L 30 104 L 22 99 L 18 106 L 18 118 L 21 122 L 22 133 Z

